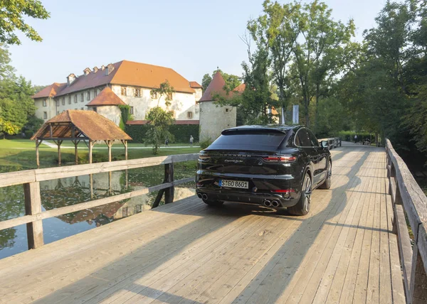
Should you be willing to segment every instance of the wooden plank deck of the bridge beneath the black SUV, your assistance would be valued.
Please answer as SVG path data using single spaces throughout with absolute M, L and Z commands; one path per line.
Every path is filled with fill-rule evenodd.
M 404 303 L 384 148 L 332 155 L 309 215 L 190 197 L 0 260 L 0 303 Z

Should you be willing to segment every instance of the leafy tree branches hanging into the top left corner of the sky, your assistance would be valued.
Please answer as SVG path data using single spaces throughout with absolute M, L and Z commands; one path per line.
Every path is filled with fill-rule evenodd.
M 26 23 L 26 17 L 47 19 L 51 15 L 38 0 L 0 2 L 0 42 L 10 45 L 21 44 L 16 31 L 21 31 L 34 41 L 41 41 L 36 30 Z

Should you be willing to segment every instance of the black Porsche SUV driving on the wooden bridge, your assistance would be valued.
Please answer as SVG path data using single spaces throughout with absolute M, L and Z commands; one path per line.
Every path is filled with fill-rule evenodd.
M 224 201 L 310 210 L 312 190 L 329 189 L 332 160 L 303 126 L 238 126 L 199 154 L 197 195 L 208 205 Z

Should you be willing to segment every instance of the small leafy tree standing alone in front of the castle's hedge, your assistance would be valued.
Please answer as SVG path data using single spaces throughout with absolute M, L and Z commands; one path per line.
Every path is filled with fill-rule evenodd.
M 169 132 L 169 126 L 174 123 L 172 112 L 161 107 L 154 107 L 145 114 L 149 129 L 145 134 L 145 142 L 153 146 L 153 154 L 157 154 L 159 147 L 166 139 L 172 141 L 174 136 Z

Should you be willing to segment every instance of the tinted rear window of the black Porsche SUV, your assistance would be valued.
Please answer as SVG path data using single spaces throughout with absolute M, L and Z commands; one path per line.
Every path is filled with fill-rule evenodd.
M 275 151 L 285 138 L 281 131 L 232 130 L 225 131 L 209 146 L 219 150 Z

